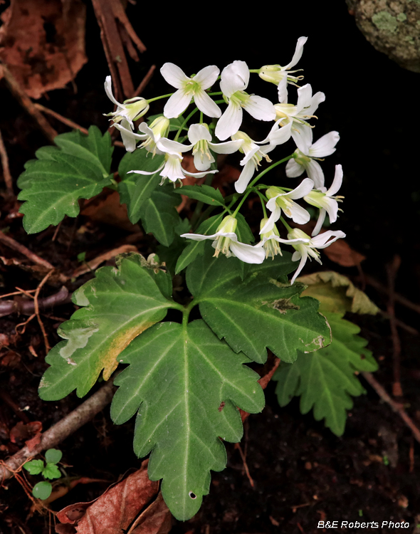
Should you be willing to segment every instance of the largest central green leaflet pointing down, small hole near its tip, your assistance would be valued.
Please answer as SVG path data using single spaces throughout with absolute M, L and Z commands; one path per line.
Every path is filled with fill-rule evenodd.
M 226 466 L 219 436 L 242 436 L 236 407 L 261 412 L 264 396 L 249 362 L 220 341 L 202 320 L 161 323 L 122 353 L 130 367 L 115 379 L 112 400 L 117 424 L 138 410 L 135 453 L 152 451 L 148 474 L 163 478 L 162 495 L 179 520 L 191 518 L 209 493 L 210 473 Z M 224 404 L 222 404 L 224 403 Z

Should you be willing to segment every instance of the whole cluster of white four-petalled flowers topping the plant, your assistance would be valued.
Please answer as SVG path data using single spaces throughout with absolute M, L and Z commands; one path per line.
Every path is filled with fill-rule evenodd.
M 162 97 L 146 100 L 132 98 L 119 103 L 112 95 L 111 78 L 105 81 L 105 91 L 115 104 L 116 110 L 108 113 L 113 125 L 120 130 L 122 141 L 127 151 L 132 152 L 138 147 L 149 152 L 152 156 L 163 156 L 163 162 L 152 172 L 133 169 L 137 174 L 156 174 L 162 177 L 161 184 L 167 180 L 182 184 L 185 177 L 208 177 L 217 170 L 211 169 L 217 154 L 243 155 L 240 164 L 241 174 L 235 183 L 236 194 L 232 202 L 224 209 L 224 218 L 211 235 L 182 234 L 182 237 L 196 241 L 211 239 L 215 248 L 214 256 L 223 253 L 226 256 L 236 256 L 246 263 L 262 263 L 266 258 L 273 258 L 281 254 L 280 244 L 287 244 L 295 249 L 293 261 L 300 261 L 292 283 L 302 270 L 308 258 L 320 262 L 317 249 L 325 248 L 339 238 L 345 237 L 342 231 L 325 231 L 321 233 L 322 225 L 328 214 L 330 223 L 337 220 L 338 202 L 342 197 L 336 195 L 342 184 L 342 167 L 335 167 L 335 177 L 329 189 L 325 187 L 325 176 L 320 161 L 335 152 L 340 136 L 338 132 L 328 132 L 313 142 L 313 120 L 318 106 L 325 100 L 324 93 L 313 95 L 310 84 L 299 87 L 298 83 L 303 75 L 295 75 L 298 70 L 290 70 L 300 61 L 306 37 L 300 37 L 296 44 L 295 53 L 290 63 L 285 66 L 266 65 L 251 70 L 245 61 L 233 61 L 223 70 L 211 65 L 199 70 L 195 75 L 187 76 L 184 71 L 173 63 L 165 63 L 160 69 L 164 80 L 175 88 L 174 93 Z M 277 86 L 277 103 L 271 102 L 253 93 L 248 93 L 251 73 L 256 73 L 262 80 Z M 214 89 L 219 80 L 220 91 Z M 296 103 L 289 103 L 288 85 L 298 87 Z M 215 91 L 215 92 L 211 92 Z M 216 100 L 216 98 L 220 100 Z M 135 121 L 145 115 L 149 104 L 154 100 L 167 98 L 163 113 L 155 117 L 149 125 L 141 122 L 138 132 L 135 131 Z M 182 114 L 193 105 L 187 119 Z M 220 108 L 219 105 L 224 105 Z M 253 140 L 241 130 L 243 111 L 256 120 L 268 122 L 266 138 Z M 199 122 L 194 120 L 199 113 Z M 205 122 L 204 117 L 210 117 Z M 177 134 L 169 138 L 171 120 L 181 120 Z M 271 123 L 271 124 L 270 124 Z M 187 136 L 183 132 L 187 131 Z M 273 162 L 268 156 L 279 145 L 293 142 L 295 148 L 288 157 Z M 138 144 L 138 145 L 137 145 Z M 185 152 L 192 152 L 194 166 L 197 172 L 187 172 L 182 165 Z M 294 189 L 283 186 L 266 186 L 257 182 L 277 164 L 286 162 L 285 174 L 290 178 L 307 176 Z M 268 164 L 269 166 L 267 166 Z M 265 169 L 263 167 L 266 167 Z M 199 186 L 196 186 L 199 187 Z M 260 225 L 260 241 L 255 244 L 241 243 L 238 239 L 238 211 L 248 194 L 257 194 L 261 199 L 263 218 Z M 233 204 L 239 201 L 236 209 Z M 298 201 L 304 201 L 319 210 L 317 223 L 311 236 L 303 230 L 292 228 L 284 217 L 291 219 L 294 224 L 308 224 L 310 212 Z M 269 214 L 268 214 L 269 212 Z M 283 224 L 287 231 L 287 239 L 280 237 L 278 224 Z

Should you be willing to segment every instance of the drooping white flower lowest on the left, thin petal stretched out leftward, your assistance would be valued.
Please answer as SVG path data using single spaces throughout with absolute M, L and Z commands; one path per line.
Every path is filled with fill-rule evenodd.
M 214 239 L 213 248 L 216 249 L 214 256 L 219 256 L 219 253 L 239 258 L 244 263 L 263 263 L 265 253 L 263 248 L 258 245 L 246 245 L 238 241 L 235 230 L 238 221 L 231 215 L 226 216 L 219 225 L 216 234 L 211 236 L 204 236 L 201 234 L 182 234 L 181 237 L 187 239 L 194 239 L 194 241 L 204 241 L 204 239 Z

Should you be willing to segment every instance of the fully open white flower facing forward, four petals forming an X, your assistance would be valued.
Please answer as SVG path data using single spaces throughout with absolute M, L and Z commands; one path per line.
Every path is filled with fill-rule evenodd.
M 211 100 L 205 89 L 211 87 L 219 76 L 219 68 L 215 65 L 202 68 L 199 73 L 189 78 L 183 70 L 174 63 L 165 63 L 160 73 L 169 85 L 177 88 L 177 91 L 169 98 L 164 106 L 164 116 L 168 119 L 179 117 L 187 109 L 192 98 L 194 103 L 204 115 L 219 118 L 221 110 Z

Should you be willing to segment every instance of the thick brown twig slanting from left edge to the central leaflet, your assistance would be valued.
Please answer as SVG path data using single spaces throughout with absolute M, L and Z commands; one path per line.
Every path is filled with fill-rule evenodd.
M 70 412 L 64 419 L 51 426 L 50 429 L 41 434 L 41 442 L 34 448 L 29 450 L 28 446 L 16 452 L 8 460 L 0 463 L 0 485 L 8 478 L 14 476 L 19 472 L 23 464 L 40 454 L 46 449 L 53 449 L 70 434 L 80 429 L 95 417 L 98 412 L 105 408 L 111 402 L 114 386 L 112 380 L 107 382 L 98 392 L 92 395 L 88 400 L 80 404 L 73 412 Z

